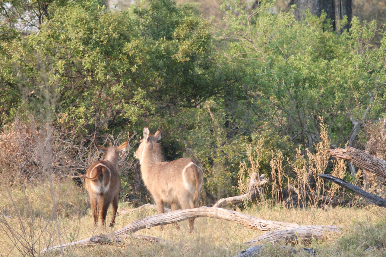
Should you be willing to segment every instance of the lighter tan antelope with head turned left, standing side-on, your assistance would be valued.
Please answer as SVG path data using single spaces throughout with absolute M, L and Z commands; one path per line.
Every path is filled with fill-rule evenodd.
M 195 161 L 180 158 L 171 162 L 163 161 L 159 140 L 162 130 L 151 135 L 144 127 L 144 137 L 134 157 L 139 159 L 142 179 L 156 202 L 158 213 L 164 212 L 164 203 L 169 203 L 171 210 L 196 208 L 200 201 L 200 190 L 204 173 Z M 189 219 L 190 231 L 193 230 L 194 218 Z M 177 223 L 174 225 L 179 229 Z

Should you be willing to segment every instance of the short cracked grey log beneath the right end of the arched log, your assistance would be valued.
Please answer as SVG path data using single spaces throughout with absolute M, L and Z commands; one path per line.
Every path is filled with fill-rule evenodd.
M 310 241 L 313 238 L 322 239 L 328 232 L 338 233 L 340 232 L 340 227 L 306 225 L 306 226 L 299 226 L 296 228 L 289 228 L 285 230 L 271 231 L 271 232 L 264 233 L 258 238 L 249 240 L 248 242 L 246 242 L 246 244 L 253 245 L 257 242 L 275 243 L 283 239 L 286 242 L 296 242 L 299 239 Z

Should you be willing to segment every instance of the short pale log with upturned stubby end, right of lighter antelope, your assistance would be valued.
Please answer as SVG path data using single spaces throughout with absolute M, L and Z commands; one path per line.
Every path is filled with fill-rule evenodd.
M 253 172 L 251 174 L 251 182 L 249 183 L 249 186 L 247 189 L 248 192 L 246 194 L 228 197 L 228 198 L 221 198 L 220 200 L 217 201 L 217 203 L 215 203 L 215 205 L 213 205 L 213 207 L 222 208 L 226 205 L 240 203 L 240 202 L 245 201 L 245 200 L 251 200 L 251 199 L 256 198 L 256 193 L 259 190 L 261 190 L 261 188 L 259 188 L 259 186 L 262 186 L 264 184 L 269 183 L 269 180 L 265 176 L 266 176 L 265 174 L 262 174 L 259 177 L 259 180 L 257 180 L 256 179 L 257 173 Z

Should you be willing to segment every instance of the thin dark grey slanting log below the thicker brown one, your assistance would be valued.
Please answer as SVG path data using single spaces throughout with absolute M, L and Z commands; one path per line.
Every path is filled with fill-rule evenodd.
M 362 196 L 362 198 L 364 198 L 366 201 L 369 201 L 370 203 L 372 203 L 374 205 L 378 205 L 378 206 L 386 208 L 386 199 L 383 199 L 379 196 L 376 196 L 375 194 L 368 193 L 368 192 L 362 190 L 361 188 L 354 186 L 353 184 L 345 181 L 344 179 L 335 178 L 334 176 L 327 175 L 327 174 L 318 174 L 317 176 L 319 178 L 323 178 L 327 181 L 331 181 L 335 184 L 343 186 L 344 188 L 350 189 L 355 194 Z

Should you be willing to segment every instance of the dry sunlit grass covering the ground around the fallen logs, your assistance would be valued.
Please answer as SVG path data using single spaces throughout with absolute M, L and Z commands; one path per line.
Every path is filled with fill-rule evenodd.
M 44 195 L 45 183 L 30 188 L 10 189 L 4 187 L 1 191 L 1 208 L 7 208 L 8 217 L 0 217 L 0 253 L 2 255 L 20 256 L 39 255 L 47 245 L 74 242 L 101 235 L 122 228 L 134 220 L 141 220 L 155 215 L 153 209 L 135 210 L 128 203 L 119 203 L 119 216 L 115 227 L 94 227 L 91 210 L 86 205 L 87 194 L 83 189 L 63 181 L 56 184 L 55 192 L 59 204 L 56 208 L 58 224 L 50 218 L 52 205 Z M 47 203 L 48 201 L 48 203 Z M 71 204 L 64 204 L 71 203 Z M 258 203 L 249 204 L 246 208 L 234 207 L 235 210 L 262 218 L 265 220 L 297 223 L 299 225 L 338 225 L 342 233 L 328 235 L 324 240 L 313 240 L 311 243 L 289 245 L 295 249 L 302 247 L 314 248 L 319 256 L 383 256 L 383 246 L 386 244 L 385 224 L 386 211 L 376 206 L 362 208 L 286 208 L 281 205 L 268 206 Z M 35 210 L 36 209 L 36 210 Z M 37 209 L 40 209 L 37 211 Z M 80 210 L 81 209 L 81 210 Z M 20 211 L 24 210 L 24 211 Z M 31 215 L 34 214 L 34 215 Z M 107 221 L 111 219 L 111 209 L 108 211 Z M 60 236 L 56 226 L 59 225 Z M 213 218 L 196 218 L 195 230 L 188 234 L 188 221 L 179 223 L 181 230 L 174 225 L 153 227 L 136 232 L 162 239 L 166 242 L 144 242 L 138 238 L 125 238 L 122 243 L 113 245 L 92 245 L 85 247 L 71 247 L 63 250 L 69 256 L 234 256 L 248 248 L 245 242 L 262 235 L 264 232 L 255 231 L 224 220 Z M 168 243 L 169 242 L 169 243 Z M 285 245 L 284 242 L 275 244 Z M 278 256 L 285 254 L 277 246 L 266 245 L 264 256 Z M 31 248 L 29 251 L 28 248 Z M 373 248 L 369 248 L 373 247 Z M 367 251 L 365 252 L 365 250 Z M 55 253 L 49 253 L 53 255 Z M 298 256 L 304 253 L 299 252 Z M 306 255 L 304 255 L 306 256 Z

